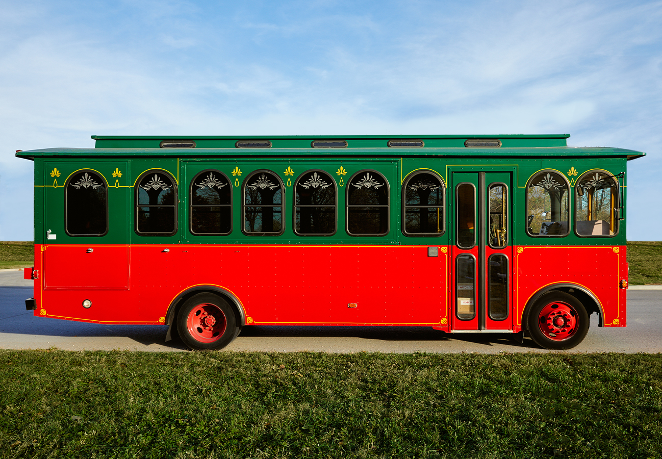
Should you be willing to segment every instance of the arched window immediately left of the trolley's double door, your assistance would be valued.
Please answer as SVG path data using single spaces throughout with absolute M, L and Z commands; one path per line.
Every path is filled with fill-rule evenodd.
M 432 172 L 410 176 L 404 189 L 404 234 L 440 236 L 444 232 L 444 185 Z

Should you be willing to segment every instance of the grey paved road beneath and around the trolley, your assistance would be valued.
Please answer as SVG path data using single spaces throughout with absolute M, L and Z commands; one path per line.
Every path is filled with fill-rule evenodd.
M 0 272 L 0 348 L 183 351 L 164 325 L 98 325 L 34 317 L 24 300 L 32 281 Z M 662 352 L 662 289 L 628 290 L 628 327 L 591 329 L 571 352 Z M 265 352 L 555 352 L 502 334 L 447 334 L 423 327 L 244 327 L 225 350 Z

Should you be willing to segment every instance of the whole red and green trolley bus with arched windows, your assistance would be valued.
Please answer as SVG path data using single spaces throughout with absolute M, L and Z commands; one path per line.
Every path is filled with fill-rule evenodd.
M 34 161 L 38 317 L 526 332 L 626 326 L 626 164 L 569 134 L 93 136 Z

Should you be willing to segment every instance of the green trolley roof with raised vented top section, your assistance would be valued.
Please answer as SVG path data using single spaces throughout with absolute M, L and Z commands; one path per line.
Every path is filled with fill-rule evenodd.
M 240 157 L 240 156 L 645 156 L 635 150 L 568 147 L 570 134 L 399 135 L 399 136 L 92 136 L 95 148 L 18 151 L 39 157 Z M 262 148 L 255 148 L 256 145 Z M 338 146 L 343 148 L 334 148 Z M 185 146 L 185 148 L 182 148 Z M 321 146 L 321 147 L 320 147 Z

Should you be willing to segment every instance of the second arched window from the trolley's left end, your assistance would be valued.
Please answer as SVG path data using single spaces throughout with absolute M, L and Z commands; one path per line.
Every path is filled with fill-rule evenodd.
M 177 232 L 177 185 L 163 170 L 150 170 L 136 181 L 136 233 L 171 236 Z

